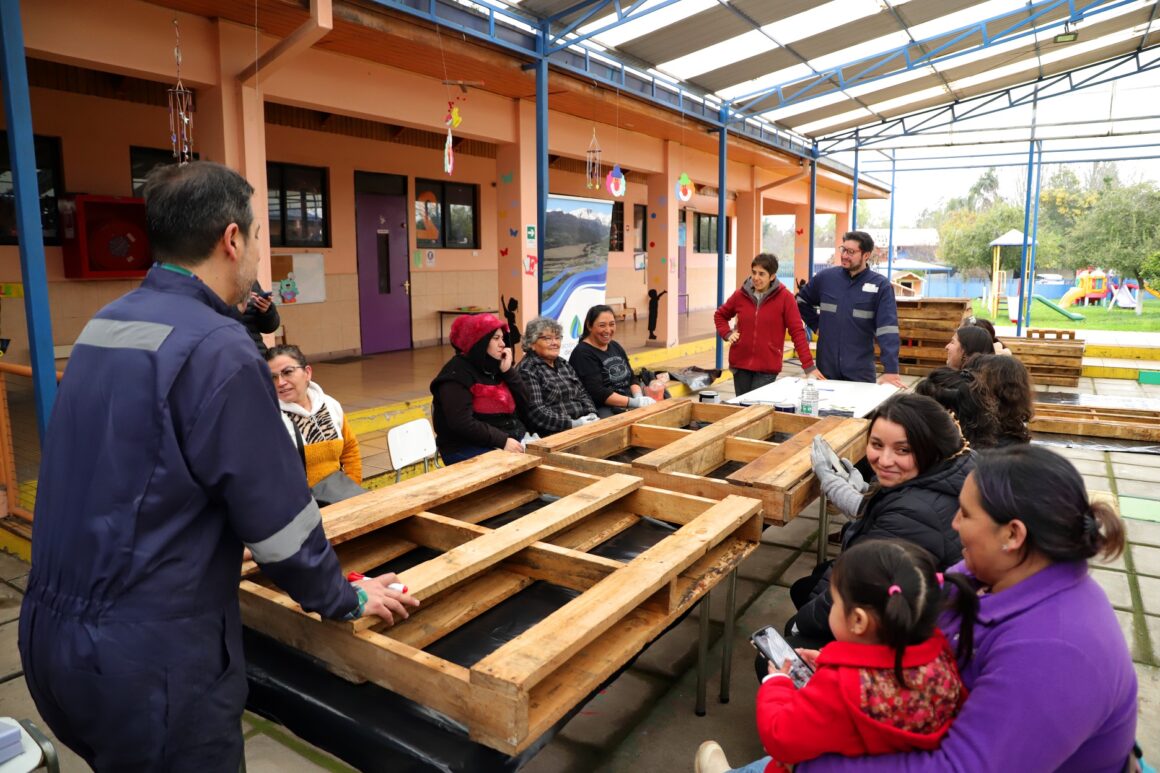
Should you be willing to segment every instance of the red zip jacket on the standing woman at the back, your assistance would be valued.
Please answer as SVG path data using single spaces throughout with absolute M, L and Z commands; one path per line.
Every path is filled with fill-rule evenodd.
M 717 325 L 718 335 L 725 339 L 730 337 L 728 320 L 733 317 L 737 317 L 737 328 L 741 332 L 741 338 L 730 346 L 731 368 L 781 373 L 785 330 L 789 328 L 793 338 L 793 348 L 802 360 L 802 368 L 807 373 L 813 370 L 810 339 L 806 338 L 797 301 L 776 279 L 760 304 L 753 295 L 753 280 L 745 280 L 728 301 L 713 312 L 713 324 Z

